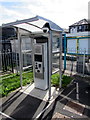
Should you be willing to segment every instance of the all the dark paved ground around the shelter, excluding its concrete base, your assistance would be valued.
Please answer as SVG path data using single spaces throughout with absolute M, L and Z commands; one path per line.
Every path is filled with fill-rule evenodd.
M 77 99 L 76 83 L 78 83 L 79 86 L 79 99 Z M 39 99 L 39 97 L 35 97 L 31 94 L 26 93 L 27 92 L 18 90 L 12 92 L 9 96 L 2 99 L 2 111 L 0 114 L 3 119 L 90 119 L 89 78 L 86 79 L 84 77 L 74 75 L 73 82 L 66 89 L 64 89 L 52 102 Z

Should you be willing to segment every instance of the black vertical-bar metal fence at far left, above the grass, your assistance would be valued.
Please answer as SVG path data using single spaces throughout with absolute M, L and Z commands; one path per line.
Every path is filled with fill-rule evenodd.
M 2 45 L 2 46 L 1 46 Z M 0 67 L 2 66 L 3 71 L 11 70 L 13 72 L 13 63 L 12 63 L 12 48 L 10 42 L 0 43 Z M 1 68 L 0 68 L 1 70 Z

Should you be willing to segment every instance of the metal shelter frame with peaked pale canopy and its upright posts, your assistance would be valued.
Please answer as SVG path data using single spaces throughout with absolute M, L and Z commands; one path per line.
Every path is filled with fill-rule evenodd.
M 60 38 L 60 88 L 61 88 L 61 59 L 62 59 L 62 31 L 63 29 L 59 27 L 54 22 L 43 18 L 41 16 L 36 16 L 29 19 L 24 20 L 18 20 L 15 22 L 3 24 L 2 27 L 16 27 L 17 34 L 18 34 L 18 40 L 19 40 L 19 65 L 20 65 L 20 84 L 22 88 L 22 52 L 21 52 L 21 43 L 22 39 L 21 36 L 29 32 L 29 35 L 31 34 L 37 34 L 38 32 L 43 33 L 43 28 L 47 27 L 49 28 L 48 32 L 48 51 L 49 51 L 49 99 L 51 98 L 51 75 L 52 75 L 52 35 L 53 33 L 58 33 Z M 23 31 L 24 30 L 24 31 Z M 52 32 L 54 31 L 54 32 Z M 44 33 L 43 33 L 44 34 Z

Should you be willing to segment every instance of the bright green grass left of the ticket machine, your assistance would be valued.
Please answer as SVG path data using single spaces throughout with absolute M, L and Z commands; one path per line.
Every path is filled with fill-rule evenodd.
M 6 76 L 5 76 L 6 77 Z M 4 78 L 4 77 L 3 77 Z M 33 82 L 33 72 L 22 74 L 23 86 Z M 9 78 L 0 80 L 0 97 L 7 96 L 8 93 L 20 87 L 20 76 L 17 74 L 10 75 Z

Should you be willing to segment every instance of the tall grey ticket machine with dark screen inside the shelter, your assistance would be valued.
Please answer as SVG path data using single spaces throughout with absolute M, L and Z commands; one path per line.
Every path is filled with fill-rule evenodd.
M 47 38 L 37 37 L 34 44 L 34 83 L 35 87 L 46 90 L 48 89 L 48 49 Z

